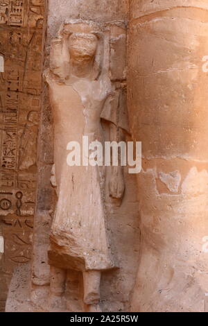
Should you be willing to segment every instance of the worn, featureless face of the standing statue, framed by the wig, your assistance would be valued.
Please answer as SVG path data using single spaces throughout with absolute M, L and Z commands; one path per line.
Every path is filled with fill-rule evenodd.
M 69 37 L 69 54 L 76 60 L 91 60 L 96 54 L 97 38 L 92 34 L 72 34 Z

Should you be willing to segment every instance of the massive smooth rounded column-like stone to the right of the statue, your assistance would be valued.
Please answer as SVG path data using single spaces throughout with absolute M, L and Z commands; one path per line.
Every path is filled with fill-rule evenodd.
M 208 3 L 131 0 L 128 106 L 143 144 L 132 311 L 206 311 Z

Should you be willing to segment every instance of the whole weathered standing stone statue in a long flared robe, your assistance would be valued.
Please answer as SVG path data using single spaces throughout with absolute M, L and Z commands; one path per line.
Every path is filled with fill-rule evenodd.
M 117 266 L 105 226 L 105 168 L 69 166 L 67 144 L 78 141 L 81 146 L 83 136 L 89 143 L 103 143 L 101 119 L 112 125 L 110 134 L 116 137 L 112 140 L 119 140 L 118 130 L 128 131 L 126 123 L 120 126 L 113 117 L 117 117 L 112 110 L 119 107 L 123 91 L 109 77 L 105 33 L 94 22 L 65 22 L 51 44 L 50 69 L 45 76 L 55 134 L 51 180 L 58 194 L 49 249 L 51 302 L 64 293 L 66 271 L 82 271 L 86 310 L 100 311 L 101 272 Z M 123 132 L 120 134 L 122 139 Z M 121 200 L 124 188 L 122 167 L 115 166 L 110 195 Z

